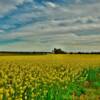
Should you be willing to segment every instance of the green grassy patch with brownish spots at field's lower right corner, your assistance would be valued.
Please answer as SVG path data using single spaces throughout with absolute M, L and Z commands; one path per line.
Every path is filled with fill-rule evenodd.
M 100 99 L 100 77 L 99 69 L 86 69 L 86 80 L 71 82 L 66 89 L 53 86 L 48 89 L 47 94 L 39 100 L 99 100 Z M 83 76 L 81 76 L 83 77 Z M 99 79 L 99 80 L 98 80 Z M 43 95 L 42 95 L 43 96 Z M 38 100 L 37 99 L 37 100 Z

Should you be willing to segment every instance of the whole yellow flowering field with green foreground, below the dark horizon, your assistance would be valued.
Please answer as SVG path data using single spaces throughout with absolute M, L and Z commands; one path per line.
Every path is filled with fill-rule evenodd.
M 0 100 L 100 100 L 100 55 L 0 56 Z

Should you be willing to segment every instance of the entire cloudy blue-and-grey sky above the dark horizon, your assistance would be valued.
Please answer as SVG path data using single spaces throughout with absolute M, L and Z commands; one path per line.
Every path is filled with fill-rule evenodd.
M 0 0 L 0 51 L 100 51 L 100 0 Z

